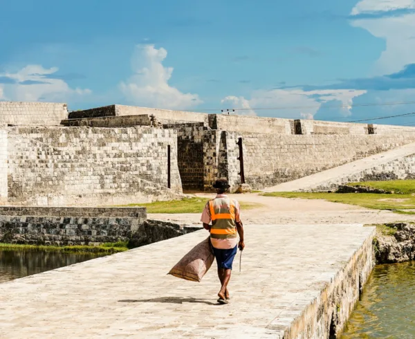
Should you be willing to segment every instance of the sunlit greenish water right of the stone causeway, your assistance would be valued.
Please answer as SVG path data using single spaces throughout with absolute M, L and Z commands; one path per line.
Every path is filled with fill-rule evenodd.
M 378 265 L 342 339 L 415 338 L 415 262 Z

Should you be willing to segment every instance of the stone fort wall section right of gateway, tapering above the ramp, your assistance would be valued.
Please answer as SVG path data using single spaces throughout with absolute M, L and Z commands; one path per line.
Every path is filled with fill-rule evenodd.
M 246 183 L 255 188 L 293 181 L 415 141 L 415 136 L 408 135 L 356 135 L 351 138 L 348 135 L 283 136 L 228 132 L 228 145 L 234 145 L 239 136 L 243 142 Z M 219 145 L 217 147 L 219 149 Z M 235 154 L 232 147 L 230 151 Z M 234 155 L 232 158 L 234 161 Z M 238 170 L 238 164 L 232 166 L 233 172 Z M 239 178 L 237 174 L 232 175 Z

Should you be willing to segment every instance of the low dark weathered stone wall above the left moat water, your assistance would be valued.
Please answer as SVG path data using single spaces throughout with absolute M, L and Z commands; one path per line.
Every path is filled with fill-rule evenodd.
M 147 219 L 145 208 L 0 207 L 0 242 L 87 245 L 128 241 Z

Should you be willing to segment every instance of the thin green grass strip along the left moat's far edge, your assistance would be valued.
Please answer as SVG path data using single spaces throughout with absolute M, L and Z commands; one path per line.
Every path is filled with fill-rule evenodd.
M 21 245 L 0 243 L 0 250 L 44 250 L 64 253 L 118 253 L 128 250 L 127 242 L 106 243 L 99 246 L 49 246 L 49 245 Z

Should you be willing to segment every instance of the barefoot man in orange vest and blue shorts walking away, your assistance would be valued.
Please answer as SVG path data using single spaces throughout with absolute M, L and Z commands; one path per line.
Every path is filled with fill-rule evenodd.
M 201 221 L 203 227 L 210 231 L 210 241 L 214 257 L 218 264 L 218 276 L 221 281 L 218 302 L 228 304 L 230 295 L 228 283 L 232 271 L 232 262 L 237 254 L 237 248 L 243 250 L 243 225 L 240 218 L 241 208 L 238 201 L 230 199 L 225 192 L 230 185 L 226 179 L 218 179 L 213 187 L 216 198 L 208 201 L 203 210 Z M 210 225 L 212 221 L 212 225 Z M 237 233 L 239 234 L 239 242 Z

